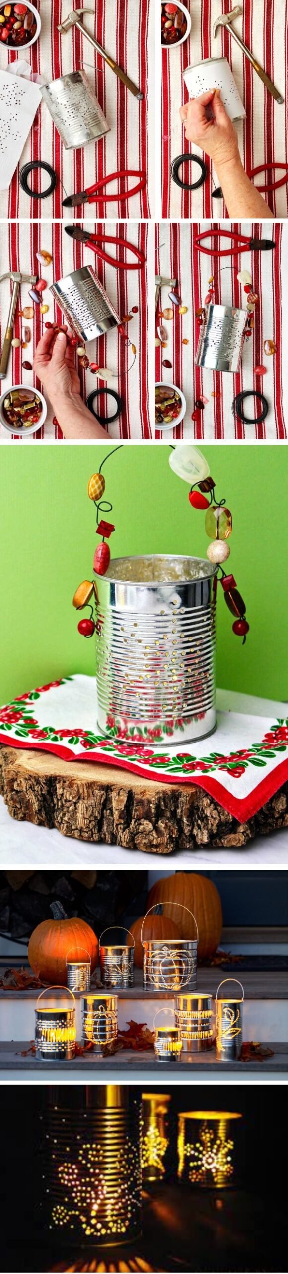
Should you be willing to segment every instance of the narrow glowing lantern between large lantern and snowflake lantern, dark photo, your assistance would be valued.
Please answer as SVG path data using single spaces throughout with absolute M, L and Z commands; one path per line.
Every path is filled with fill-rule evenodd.
M 166 1150 L 169 1147 L 169 1102 L 170 1093 L 142 1093 L 142 1181 L 164 1181 L 166 1175 Z

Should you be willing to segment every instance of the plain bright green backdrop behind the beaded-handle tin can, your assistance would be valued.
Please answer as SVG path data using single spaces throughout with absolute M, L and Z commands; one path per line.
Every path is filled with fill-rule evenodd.
M 77 633 L 72 595 L 93 578 L 95 510 L 88 480 L 110 445 L 3 446 L 0 455 L 0 702 L 75 671 L 94 673 L 94 640 Z M 242 647 L 218 590 L 218 685 L 288 699 L 288 447 L 203 446 L 217 498 L 233 515 L 231 569 L 245 598 Z M 113 555 L 206 557 L 204 513 L 169 468 L 170 448 L 123 448 L 104 466 Z M 103 515 L 105 516 L 105 513 Z

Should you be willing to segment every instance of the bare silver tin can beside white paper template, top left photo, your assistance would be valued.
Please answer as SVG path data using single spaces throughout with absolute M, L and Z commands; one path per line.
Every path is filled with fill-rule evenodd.
M 110 132 L 85 71 L 61 75 L 41 92 L 65 150 L 77 150 Z

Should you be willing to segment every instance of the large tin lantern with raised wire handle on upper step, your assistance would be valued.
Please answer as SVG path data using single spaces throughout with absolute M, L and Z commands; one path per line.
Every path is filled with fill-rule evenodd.
M 198 926 L 195 916 L 189 907 L 183 907 L 180 902 L 170 902 L 170 907 L 188 911 L 194 920 L 197 938 L 143 938 L 143 925 L 151 911 L 150 907 L 143 916 L 141 926 L 141 943 L 143 948 L 143 989 L 154 987 L 156 991 L 180 991 L 181 986 L 197 985 L 197 947 Z M 161 903 L 165 907 L 165 902 Z

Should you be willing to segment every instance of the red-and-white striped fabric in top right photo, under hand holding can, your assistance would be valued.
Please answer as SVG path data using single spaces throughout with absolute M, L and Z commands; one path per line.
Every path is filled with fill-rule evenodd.
M 235 24 L 244 43 L 279 88 L 284 97 L 283 106 L 279 106 L 264 88 L 228 32 L 222 28 L 217 37 L 213 37 L 213 23 L 221 13 L 231 11 L 231 0 L 183 0 L 183 3 L 192 18 L 190 37 L 179 50 L 162 52 L 162 217 L 218 219 L 225 217 L 226 211 L 221 200 L 212 199 L 212 177 L 216 186 L 218 178 L 208 158 L 208 177 L 199 190 L 181 191 L 170 176 L 170 164 L 176 155 L 192 150 L 202 155 L 198 147 L 187 141 L 179 116 L 179 107 L 188 102 L 183 71 L 187 66 L 203 61 L 204 57 L 226 56 L 246 110 L 246 120 L 236 124 L 246 172 L 260 163 L 287 163 L 288 0 L 245 0 L 242 19 L 239 18 Z M 181 180 L 195 181 L 199 176 L 198 169 L 193 169 L 193 176 L 187 169 L 188 166 L 184 166 Z M 274 177 L 278 180 L 280 176 L 283 175 L 279 172 L 264 176 L 261 173 L 255 181 L 263 185 L 264 180 L 272 181 Z M 268 199 L 266 195 L 264 197 Z M 288 185 L 269 195 L 268 201 L 274 217 L 288 217 Z

